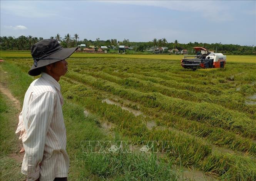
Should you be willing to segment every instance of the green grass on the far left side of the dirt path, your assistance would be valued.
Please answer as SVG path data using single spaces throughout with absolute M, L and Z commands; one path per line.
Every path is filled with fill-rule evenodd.
M 18 138 L 15 135 L 18 123 L 17 117 L 15 117 L 17 110 L 2 92 L 0 99 L 0 179 L 25 180 L 25 176 L 20 172 L 21 163 L 18 163 L 10 155 L 19 151 Z

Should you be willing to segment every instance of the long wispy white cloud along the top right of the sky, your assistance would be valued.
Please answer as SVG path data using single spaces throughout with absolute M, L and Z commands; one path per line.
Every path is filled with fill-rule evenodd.
M 170 10 L 181 11 L 181 12 L 194 12 L 202 15 L 211 21 L 229 21 L 233 20 L 233 17 L 228 13 L 228 7 L 224 7 L 221 1 L 144 1 L 144 0 L 122 0 L 122 1 L 111 1 L 104 0 L 100 2 L 129 4 L 129 5 L 142 5 L 142 6 L 154 6 L 167 8 Z

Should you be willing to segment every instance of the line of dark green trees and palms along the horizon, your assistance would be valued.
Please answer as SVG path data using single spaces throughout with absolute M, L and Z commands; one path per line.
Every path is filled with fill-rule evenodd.
M 255 55 L 256 54 L 256 46 L 241 46 L 234 44 L 222 44 L 219 43 L 199 43 L 199 42 L 189 42 L 189 43 L 179 43 L 178 40 L 174 40 L 173 42 L 167 42 L 166 38 L 156 39 L 154 38 L 149 42 L 130 42 L 129 39 L 124 39 L 123 41 L 117 41 L 117 39 L 109 39 L 109 40 L 100 40 L 100 38 L 96 38 L 95 41 L 87 40 L 79 40 L 79 35 L 75 33 L 73 36 L 67 33 L 63 38 L 60 37 L 58 33 L 56 36 L 50 37 L 52 39 L 56 39 L 64 48 L 76 47 L 80 44 L 85 44 L 86 47 L 90 45 L 94 45 L 97 47 L 100 46 L 108 46 L 114 47 L 118 45 L 132 46 L 134 50 L 137 52 L 143 52 L 151 47 L 167 47 L 168 49 L 176 48 L 178 50 L 186 49 L 189 53 L 193 52 L 193 47 L 201 46 L 208 50 L 217 51 L 218 53 L 224 54 L 234 54 L 234 55 Z M 30 50 L 30 47 L 37 43 L 38 41 L 43 40 L 42 37 L 32 37 L 32 36 L 20 36 L 18 38 L 15 37 L 0 37 L 0 50 Z M 168 50 L 166 49 L 166 51 Z M 167 53 L 167 52 L 164 52 Z

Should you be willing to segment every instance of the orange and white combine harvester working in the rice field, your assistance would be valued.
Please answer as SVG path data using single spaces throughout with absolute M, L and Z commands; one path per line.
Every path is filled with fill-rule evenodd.
M 224 68 L 226 64 L 226 55 L 214 53 L 202 47 L 194 47 L 196 55 L 185 55 L 181 60 L 181 66 L 184 68 Z

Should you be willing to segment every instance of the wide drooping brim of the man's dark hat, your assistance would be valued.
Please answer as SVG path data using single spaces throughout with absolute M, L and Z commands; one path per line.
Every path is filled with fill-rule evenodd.
M 72 53 L 74 53 L 75 50 L 77 50 L 77 47 L 63 48 L 60 51 L 57 51 L 49 56 L 44 57 L 44 60 L 37 61 L 37 66 L 35 66 L 34 64 L 32 65 L 31 69 L 28 71 L 28 74 L 32 76 L 40 75 L 41 67 L 50 65 L 51 63 L 55 63 L 57 61 L 65 60 L 66 58 L 69 58 L 69 56 L 72 55 Z

